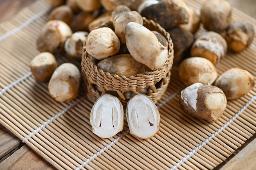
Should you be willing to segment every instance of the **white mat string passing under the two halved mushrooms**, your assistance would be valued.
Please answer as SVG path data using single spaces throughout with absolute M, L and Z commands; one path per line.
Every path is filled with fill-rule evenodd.
M 169 100 L 171 100 L 173 97 L 175 97 L 180 91 L 182 90 L 179 89 L 177 90 L 175 93 L 173 93 L 171 96 L 169 96 L 168 98 L 166 98 L 162 103 L 160 103 L 157 108 L 160 108 L 161 106 L 163 106 L 164 104 L 166 104 Z M 92 156 L 90 156 L 88 159 L 86 159 L 86 161 L 84 161 L 79 167 L 77 167 L 75 170 L 81 170 L 81 168 L 83 168 L 86 164 L 88 164 L 92 159 L 94 159 L 95 157 L 97 157 L 98 155 L 100 155 L 102 152 L 104 152 L 106 149 L 108 149 L 109 147 L 111 147 L 113 144 L 115 144 L 117 141 L 119 141 L 119 139 L 121 139 L 123 136 L 125 136 L 127 133 L 129 132 L 129 130 L 126 130 L 124 133 L 122 133 L 119 137 L 117 137 L 117 139 L 114 139 L 113 141 L 110 142 L 110 144 L 108 144 L 107 146 L 105 146 L 104 148 L 102 148 L 101 150 L 99 150 L 98 152 L 96 152 L 95 154 L 93 154 Z

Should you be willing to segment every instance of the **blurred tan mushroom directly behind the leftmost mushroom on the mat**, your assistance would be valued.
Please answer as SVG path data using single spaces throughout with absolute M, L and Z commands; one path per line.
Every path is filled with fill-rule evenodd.
M 40 52 L 60 53 L 63 51 L 65 41 L 70 35 L 72 35 L 72 30 L 65 22 L 49 20 L 43 26 L 36 40 L 36 47 Z

